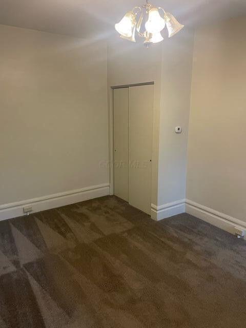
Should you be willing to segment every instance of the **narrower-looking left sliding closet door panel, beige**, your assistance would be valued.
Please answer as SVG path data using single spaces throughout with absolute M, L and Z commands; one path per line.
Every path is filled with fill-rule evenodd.
M 129 88 L 114 89 L 114 194 L 128 201 Z

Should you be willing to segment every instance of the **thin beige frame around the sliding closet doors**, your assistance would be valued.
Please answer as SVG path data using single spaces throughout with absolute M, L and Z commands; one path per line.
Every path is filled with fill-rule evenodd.
M 110 178 L 110 195 L 114 195 L 114 89 L 119 88 L 130 88 L 136 86 L 146 86 L 146 85 L 155 85 L 154 81 L 147 83 L 138 83 L 138 84 L 129 84 L 129 85 L 119 85 L 119 86 L 111 86 L 109 88 L 109 178 Z M 154 104 L 153 104 L 153 125 L 154 125 Z M 154 140 L 154 126 L 153 126 L 153 135 L 152 138 Z M 153 158 L 153 148 L 152 148 L 152 158 Z M 152 160 L 152 165 L 153 165 Z M 152 180 L 153 184 L 153 180 Z M 157 186 L 154 186 L 157 190 Z M 151 199 L 153 193 L 153 186 L 151 188 Z M 152 204 L 151 204 L 152 207 Z

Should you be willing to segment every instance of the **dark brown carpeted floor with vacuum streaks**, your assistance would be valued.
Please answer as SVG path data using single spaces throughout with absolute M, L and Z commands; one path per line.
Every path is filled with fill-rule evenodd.
M 0 222 L 0 327 L 246 326 L 246 243 L 116 197 Z

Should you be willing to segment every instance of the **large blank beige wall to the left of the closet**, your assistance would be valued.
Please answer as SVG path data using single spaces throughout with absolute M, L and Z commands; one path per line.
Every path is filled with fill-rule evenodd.
M 0 204 L 108 183 L 107 46 L 0 26 Z

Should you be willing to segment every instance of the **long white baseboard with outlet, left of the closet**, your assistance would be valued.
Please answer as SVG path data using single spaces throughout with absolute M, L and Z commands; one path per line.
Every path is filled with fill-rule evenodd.
M 70 190 L 63 193 L 47 195 L 43 197 L 16 201 L 14 203 L 0 205 L 0 220 L 6 220 L 17 216 L 23 216 L 23 208 L 32 206 L 31 213 L 54 209 L 80 201 L 109 195 L 109 184 Z

